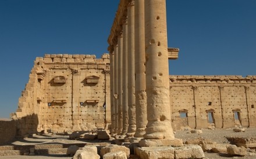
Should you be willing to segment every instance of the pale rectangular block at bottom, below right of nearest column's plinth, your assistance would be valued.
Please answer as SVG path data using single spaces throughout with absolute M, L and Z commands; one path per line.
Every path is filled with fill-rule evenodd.
M 174 150 L 175 159 L 180 158 L 204 158 L 204 151 L 199 145 L 176 147 Z

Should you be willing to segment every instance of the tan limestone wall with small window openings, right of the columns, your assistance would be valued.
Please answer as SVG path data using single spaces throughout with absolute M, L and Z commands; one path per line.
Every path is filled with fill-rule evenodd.
M 256 76 L 170 75 L 174 129 L 255 127 L 255 104 Z

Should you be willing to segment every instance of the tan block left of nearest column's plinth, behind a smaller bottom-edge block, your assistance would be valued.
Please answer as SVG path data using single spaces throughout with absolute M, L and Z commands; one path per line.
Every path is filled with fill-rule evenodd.
M 108 145 L 106 147 L 102 147 L 101 148 L 101 156 L 103 157 L 104 154 L 106 153 L 115 153 L 115 152 L 118 152 L 118 151 L 123 151 L 126 153 L 126 156 L 129 157 L 130 156 L 130 149 L 125 147 L 125 146 L 118 146 L 118 145 Z

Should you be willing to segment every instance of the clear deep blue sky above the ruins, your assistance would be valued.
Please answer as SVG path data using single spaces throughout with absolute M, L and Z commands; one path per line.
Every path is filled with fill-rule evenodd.
M 167 1 L 176 75 L 256 75 L 255 0 Z M 0 0 L 0 117 L 17 109 L 35 57 L 107 52 L 119 0 Z

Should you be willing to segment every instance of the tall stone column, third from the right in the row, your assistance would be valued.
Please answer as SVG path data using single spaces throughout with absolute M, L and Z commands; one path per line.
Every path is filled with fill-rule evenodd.
M 136 132 L 135 115 L 135 68 L 134 68 L 134 0 L 130 0 L 127 6 L 128 18 L 128 130 L 126 136 L 133 136 Z

